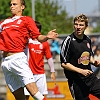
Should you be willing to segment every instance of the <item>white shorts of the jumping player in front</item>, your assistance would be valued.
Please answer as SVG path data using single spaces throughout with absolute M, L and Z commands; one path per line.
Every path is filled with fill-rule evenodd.
M 5 57 L 1 64 L 5 80 L 11 92 L 35 82 L 33 73 L 28 66 L 27 56 L 24 52 Z

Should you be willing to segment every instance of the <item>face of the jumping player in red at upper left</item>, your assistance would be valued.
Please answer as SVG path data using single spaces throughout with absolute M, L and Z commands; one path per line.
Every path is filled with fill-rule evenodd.
M 21 5 L 20 0 L 11 0 L 10 10 L 12 15 L 21 16 L 23 9 L 24 9 L 24 5 Z

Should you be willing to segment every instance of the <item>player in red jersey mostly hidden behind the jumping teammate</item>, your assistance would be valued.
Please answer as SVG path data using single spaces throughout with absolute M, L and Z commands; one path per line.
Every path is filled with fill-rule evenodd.
M 35 21 L 35 23 L 39 29 L 39 32 L 41 32 L 41 24 L 37 21 Z M 53 79 L 54 83 L 56 84 L 54 63 L 48 42 L 46 41 L 40 43 L 37 39 L 32 40 L 30 38 L 28 43 L 27 56 L 28 56 L 29 67 L 33 72 L 36 85 L 39 91 L 46 96 L 46 94 L 48 94 L 48 91 L 47 91 L 46 75 L 44 70 L 44 56 L 46 57 L 48 65 L 50 67 L 51 79 Z M 26 88 L 24 88 L 24 93 L 26 95 L 26 100 L 28 100 L 30 94 L 26 90 Z

